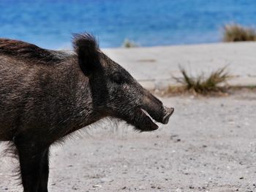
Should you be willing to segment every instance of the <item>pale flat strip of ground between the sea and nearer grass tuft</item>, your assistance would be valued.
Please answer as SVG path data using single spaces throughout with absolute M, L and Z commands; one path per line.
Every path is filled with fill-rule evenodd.
M 233 75 L 230 85 L 256 84 L 256 43 L 213 43 L 167 47 L 105 49 L 113 61 L 124 66 L 148 89 L 175 85 L 179 66 L 191 74 L 210 73 L 227 66 Z

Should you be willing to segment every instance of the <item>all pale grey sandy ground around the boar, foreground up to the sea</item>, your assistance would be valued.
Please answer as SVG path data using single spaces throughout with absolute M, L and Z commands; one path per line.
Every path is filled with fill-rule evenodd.
M 230 85 L 256 85 L 256 43 L 103 50 L 144 87 L 227 66 Z M 161 98 L 175 108 L 167 126 L 138 134 L 103 120 L 51 148 L 49 191 L 256 191 L 256 93 Z M 0 145 L 0 154 L 4 143 Z M 22 188 L 17 161 L 0 157 L 0 191 Z

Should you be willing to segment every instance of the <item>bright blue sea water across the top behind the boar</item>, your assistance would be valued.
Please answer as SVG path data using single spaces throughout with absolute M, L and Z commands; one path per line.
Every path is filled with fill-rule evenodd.
M 219 42 L 226 23 L 256 24 L 255 0 L 0 0 L 0 37 L 45 48 L 71 47 L 93 33 L 101 47 Z

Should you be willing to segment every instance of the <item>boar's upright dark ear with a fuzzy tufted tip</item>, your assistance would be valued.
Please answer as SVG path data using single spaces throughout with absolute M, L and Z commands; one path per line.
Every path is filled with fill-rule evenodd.
M 74 34 L 73 47 L 78 55 L 80 69 L 90 75 L 99 65 L 99 45 L 91 34 Z

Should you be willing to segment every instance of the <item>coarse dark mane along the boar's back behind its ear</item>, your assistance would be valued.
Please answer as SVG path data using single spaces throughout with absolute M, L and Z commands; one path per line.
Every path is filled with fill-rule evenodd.
M 8 55 L 12 58 L 23 59 L 26 61 L 36 61 L 41 64 L 61 61 L 69 55 L 56 50 L 46 50 L 36 45 L 13 39 L 0 39 L 0 56 Z

